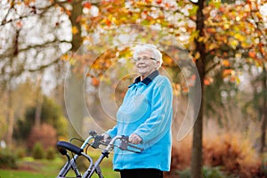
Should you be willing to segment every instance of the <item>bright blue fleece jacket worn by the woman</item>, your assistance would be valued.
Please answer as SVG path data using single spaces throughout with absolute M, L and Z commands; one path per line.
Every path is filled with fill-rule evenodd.
M 125 94 L 117 110 L 117 125 L 107 133 L 116 135 L 138 134 L 144 148 L 142 153 L 133 153 L 115 148 L 114 170 L 156 168 L 169 171 L 171 163 L 173 117 L 173 90 L 167 77 L 158 70 L 142 81 L 137 77 Z

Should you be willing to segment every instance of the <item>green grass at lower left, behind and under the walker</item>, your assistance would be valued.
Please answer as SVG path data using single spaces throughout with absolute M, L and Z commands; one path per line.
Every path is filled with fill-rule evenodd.
M 93 161 L 100 155 L 100 151 L 93 151 L 90 153 Z M 61 167 L 65 164 L 64 157 L 55 158 L 54 160 L 34 160 L 33 158 L 23 158 L 18 161 L 18 169 L 0 169 L 0 178 L 51 178 L 56 177 L 61 169 Z M 106 178 L 118 178 L 119 174 L 112 170 L 112 156 L 109 158 L 105 158 L 101 162 L 101 171 L 104 177 Z M 87 162 L 85 162 L 85 166 L 88 166 Z M 69 176 L 73 176 L 74 174 L 68 174 Z M 85 169 L 81 171 L 85 172 Z M 93 178 L 97 178 L 98 176 L 95 174 Z

